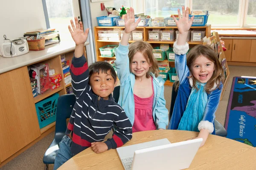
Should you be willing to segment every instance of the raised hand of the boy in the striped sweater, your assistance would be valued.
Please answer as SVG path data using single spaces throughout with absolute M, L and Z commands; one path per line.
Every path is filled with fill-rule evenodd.
M 75 17 L 76 26 L 74 26 L 73 20 L 70 20 L 70 23 L 73 30 L 70 26 L 68 26 L 68 29 L 76 45 L 84 44 L 87 40 L 89 29 L 87 28 L 84 32 L 83 23 L 81 21 L 78 23 L 77 17 Z

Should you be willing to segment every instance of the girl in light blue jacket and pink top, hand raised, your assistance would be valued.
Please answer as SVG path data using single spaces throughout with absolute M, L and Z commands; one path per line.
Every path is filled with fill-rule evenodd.
M 116 49 L 116 71 L 120 80 L 118 104 L 122 106 L 133 132 L 166 129 L 168 110 L 164 99 L 164 81 L 158 76 L 158 64 L 152 46 L 144 41 L 129 45 L 129 37 L 136 29 L 134 9 L 127 10 L 125 31 Z

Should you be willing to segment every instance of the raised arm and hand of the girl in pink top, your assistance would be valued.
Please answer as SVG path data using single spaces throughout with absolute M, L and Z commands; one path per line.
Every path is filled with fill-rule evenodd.
M 130 8 L 130 10 L 127 10 L 127 14 L 125 15 L 125 31 L 122 36 L 122 40 L 119 44 L 119 46 L 116 48 L 116 71 L 117 76 L 120 80 L 120 85 L 125 82 L 125 80 L 128 78 L 128 75 L 130 74 L 130 66 L 129 66 L 129 58 L 128 58 L 128 42 L 129 37 L 132 31 L 136 29 L 140 22 L 140 18 L 135 23 L 135 17 L 134 17 L 134 9 Z

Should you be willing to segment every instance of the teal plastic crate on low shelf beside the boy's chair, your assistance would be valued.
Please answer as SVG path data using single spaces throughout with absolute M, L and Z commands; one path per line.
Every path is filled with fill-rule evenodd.
M 40 129 L 56 121 L 58 93 L 35 104 Z

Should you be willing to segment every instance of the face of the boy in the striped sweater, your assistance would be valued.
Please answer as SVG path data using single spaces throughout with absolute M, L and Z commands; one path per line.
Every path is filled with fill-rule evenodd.
M 108 96 L 113 92 L 116 84 L 117 81 L 115 82 L 110 70 L 107 73 L 99 70 L 99 73 L 93 73 L 90 76 L 90 86 L 93 92 L 105 100 L 108 100 Z

